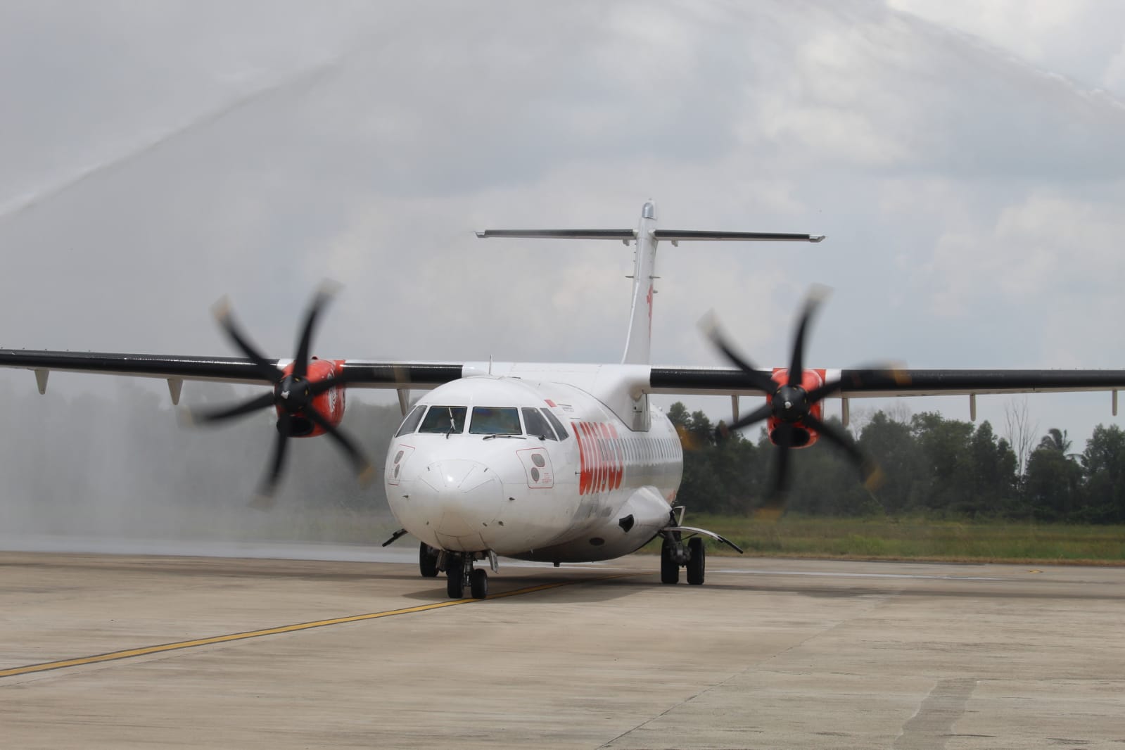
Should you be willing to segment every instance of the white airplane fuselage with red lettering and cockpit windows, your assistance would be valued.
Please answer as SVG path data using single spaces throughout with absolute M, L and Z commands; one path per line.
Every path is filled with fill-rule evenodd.
M 550 562 L 628 554 L 669 525 L 683 472 L 672 423 L 645 408 L 648 428 L 633 431 L 567 382 L 482 374 L 440 386 L 392 440 L 390 509 L 450 552 Z

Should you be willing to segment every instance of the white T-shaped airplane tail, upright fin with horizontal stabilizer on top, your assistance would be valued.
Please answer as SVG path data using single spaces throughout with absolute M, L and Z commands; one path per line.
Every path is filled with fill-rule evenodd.
M 629 334 L 622 364 L 648 364 L 652 342 L 652 296 L 656 293 L 656 244 L 666 240 L 674 246 L 681 240 L 742 242 L 820 242 L 824 235 L 788 234 L 772 232 L 711 232 L 696 229 L 657 229 L 656 204 L 647 201 L 640 210 L 636 229 L 485 229 L 478 237 L 557 237 L 562 240 L 619 240 L 624 244 L 637 243 L 633 261 L 632 308 L 629 313 Z

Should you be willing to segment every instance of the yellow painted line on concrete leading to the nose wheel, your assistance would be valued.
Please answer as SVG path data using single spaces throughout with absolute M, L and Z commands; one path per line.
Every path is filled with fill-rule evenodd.
M 605 578 L 620 578 L 621 576 L 606 576 Z M 585 581 L 592 579 L 584 579 Z M 604 580 L 597 578 L 593 580 Z M 488 599 L 502 599 L 508 596 L 520 596 L 522 594 L 534 594 L 549 588 L 570 586 L 583 581 L 567 580 L 556 584 L 542 584 L 540 586 L 529 586 L 518 588 L 513 591 L 492 594 Z M 164 651 L 176 651 L 178 649 L 194 649 L 200 645 L 213 645 L 215 643 L 228 643 L 231 641 L 244 641 L 250 638 L 261 638 L 263 635 L 278 635 L 280 633 L 295 633 L 297 631 L 309 630 L 312 627 L 327 627 L 328 625 L 342 625 L 363 620 L 378 620 L 379 617 L 394 617 L 396 615 L 408 615 L 416 612 L 429 612 L 430 609 L 441 609 L 442 607 L 456 607 L 460 604 L 471 604 L 474 602 L 487 602 L 488 599 L 450 599 L 448 602 L 434 602 L 433 604 L 420 604 L 416 607 L 403 607 L 402 609 L 387 609 L 385 612 L 371 612 L 364 615 L 349 615 L 346 617 L 332 617 L 331 620 L 316 620 L 314 622 L 297 623 L 295 625 L 280 625 L 278 627 L 264 627 L 262 630 L 251 630 L 243 633 L 228 633 L 226 635 L 213 635 L 210 638 L 197 638 L 191 641 L 177 641 L 176 643 L 161 643 L 160 645 L 145 645 L 140 649 L 126 649 L 124 651 L 110 651 L 92 657 L 78 657 L 75 659 L 62 659 L 60 661 L 45 661 L 38 665 L 27 665 L 24 667 L 11 667 L 0 669 L 0 677 L 15 677 L 16 675 L 30 675 L 43 672 L 50 669 L 64 669 L 66 667 L 81 667 L 83 665 L 96 665 L 101 661 L 116 661 L 118 659 L 132 659 L 134 657 L 145 657 L 152 653 L 163 653 Z

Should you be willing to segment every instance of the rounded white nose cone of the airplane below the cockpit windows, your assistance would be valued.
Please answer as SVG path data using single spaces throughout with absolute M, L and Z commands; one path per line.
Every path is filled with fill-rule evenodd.
M 436 518 L 434 531 L 442 536 L 479 537 L 500 513 L 504 487 L 496 472 L 479 461 L 434 461 L 420 479 L 418 489 Z

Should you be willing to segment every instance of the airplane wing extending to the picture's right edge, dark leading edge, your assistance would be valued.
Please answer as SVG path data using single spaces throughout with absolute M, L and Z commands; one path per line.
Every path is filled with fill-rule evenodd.
M 770 377 L 772 370 L 762 371 Z M 889 396 L 955 396 L 1036 394 L 1079 390 L 1125 390 L 1125 370 L 826 370 L 827 382 L 840 381 L 834 396 L 884 398 Z M 765 396 L 735 368 L 654 367 L 655 394 Z

